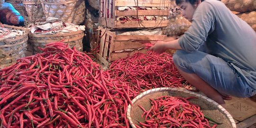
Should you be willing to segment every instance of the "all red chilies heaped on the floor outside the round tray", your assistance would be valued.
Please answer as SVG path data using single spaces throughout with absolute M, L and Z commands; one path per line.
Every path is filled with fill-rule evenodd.
M 129 128 L 126 111 L 137 94 L 187 84 L 168 54 L 136 54 L 102 71 L 64 43 L 41 50 L 0 69 L 1 126 Z

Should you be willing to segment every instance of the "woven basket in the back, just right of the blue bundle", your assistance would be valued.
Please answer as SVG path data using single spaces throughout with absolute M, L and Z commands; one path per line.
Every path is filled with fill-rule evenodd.
M 35 23 L 46 21 L 46 15 L 40 0 L 23 0 L 23 4 L 26 8 L 29 22 Z

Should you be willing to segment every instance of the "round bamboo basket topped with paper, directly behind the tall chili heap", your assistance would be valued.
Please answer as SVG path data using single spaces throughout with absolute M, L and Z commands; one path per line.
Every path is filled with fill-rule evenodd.
M 42 34 L 29 34 L 29 43 L 32 45 L 33 54 L 41 53 L 42 51 L 38 47 L 45 47 L 46 44 L 61 41 L 67 43 L 71 48 L 75 48 L 82 51 L 82 38 L 84 36 L 83 31 L 76 31 L 64 34 L 55 35 L 42 35 Z

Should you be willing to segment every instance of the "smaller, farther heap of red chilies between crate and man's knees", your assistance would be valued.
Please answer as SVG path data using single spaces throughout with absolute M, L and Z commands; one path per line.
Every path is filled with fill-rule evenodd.
M 192 87 L 174 67 L 172 55 L 167 53 L 159 55 L 148 51 L 114 61 L 110 65 L 110 76 L 126 82 L 137 94 L 160 87 L 184 87 L 188 90 Z

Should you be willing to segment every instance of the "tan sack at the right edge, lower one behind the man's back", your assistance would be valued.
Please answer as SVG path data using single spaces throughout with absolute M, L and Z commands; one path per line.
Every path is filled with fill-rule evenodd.
M 256 0 L 255 0 L 256 1 Z M 256 31 L 256 11 L 238 13 L 239 18 L 247 22 Z

